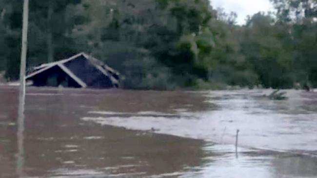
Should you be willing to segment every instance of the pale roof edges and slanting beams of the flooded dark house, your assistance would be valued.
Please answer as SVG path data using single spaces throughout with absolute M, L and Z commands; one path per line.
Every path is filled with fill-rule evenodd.
M 86 60 L 88 60 L 91 64 L 93 64 L 102 74 L 105 76 L 109 77 L 110 80 L 112 81 L 113 84 L 119 84 L 119 79 L 114 77 L 114 75 L 119 76 L 120 73 L 108 65 L 104 64 L 103 62 L 99 61 L 98 59 L 86 54 L 86 53 L 78 53 L 76 55 L 73 55 L 67 59 L 62 59 L 56 62 L 51 62 L 51 63 L 46 63 L 46 64 L 41 64 L 40 66 L 34 67 L 31 73 L 29 73 L 25 79 L 30 79 L 31 77 L 46 71 L 48 69 L 51 69 L 54 66 L 59 66 L 61 70 L 63 70 L 65 73 L 67 73 L 72 79 L 74 79 L 82 88 L 86 88 L 87 84 L 81 80 L 74 72 L 69 70 L 64 64 L 67 62 L 70 62 L 74 59 L 77 59 L 78 57 L 83 56 Z

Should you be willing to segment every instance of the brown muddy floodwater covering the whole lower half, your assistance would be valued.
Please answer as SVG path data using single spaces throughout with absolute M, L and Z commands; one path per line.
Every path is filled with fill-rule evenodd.
M 317 178 L 317 93 L 269 92 L 27 88 L 18 138 L 2 86 L 0 178 Z

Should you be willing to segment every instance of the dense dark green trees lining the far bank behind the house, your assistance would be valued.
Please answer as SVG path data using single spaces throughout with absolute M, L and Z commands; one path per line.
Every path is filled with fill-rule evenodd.
M 125 88 L 317 86 L 317 0 L 271 0 L 237 15 L 209 0 L 30 0 L 28 67 L 79 52 L 116 68 Z M 0 71 L 19 73 L 22 0 L 0 0 Z

